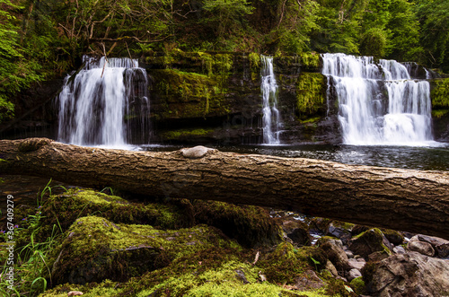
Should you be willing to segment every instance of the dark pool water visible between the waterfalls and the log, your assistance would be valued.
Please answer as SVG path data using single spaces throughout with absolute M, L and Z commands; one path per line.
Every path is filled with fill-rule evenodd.
M 435 145 L 435 144 L 434 144 Z M 140 146 L 145 151 L 174 151 L 180 146 Z M 360 145 L 239 145 L 216 146 L 222 152 L 257 153 L 287 158 L 309 158 L 345 164 L 414 170 L 449 171 L 449 144 L 438 146 Z

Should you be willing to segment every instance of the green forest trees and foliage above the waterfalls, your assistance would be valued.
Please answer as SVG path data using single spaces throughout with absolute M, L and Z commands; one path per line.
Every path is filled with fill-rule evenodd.
M 446 0 L 0 0 L 0 122 L 11 97 L 84 54 L 341 52 L 449 72 Z

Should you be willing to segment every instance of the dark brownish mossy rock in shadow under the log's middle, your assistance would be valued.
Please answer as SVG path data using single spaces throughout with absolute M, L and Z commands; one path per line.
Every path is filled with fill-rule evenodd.
M 262 207 L 202 200 L 192 205 L 197 223 L 220 229 L 243 247 L 273 246 L 283 239 L 282 229 Z

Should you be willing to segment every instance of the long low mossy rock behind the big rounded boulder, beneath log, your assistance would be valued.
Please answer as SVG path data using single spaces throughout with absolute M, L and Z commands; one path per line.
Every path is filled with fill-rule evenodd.
M 95 214 L 114 223 L 151 224 L 155 228 L 178 229 L 194 223 L 193 210 L 189 201 L 172 199 L 166 204 L 131 203 L 121 197 L 106 195 L 88 188 L 70 188 L 66 193 L 50 196 L 38 210 L 39 231 L 35 240 L 46 240 L 52 233 L 65 232 L 78 217 Z M 36 214 L 29 214 L 22 220 L 22 228 L 33 223 Z M 30 241 L 35 228 L 23 231 L 18 246 Z

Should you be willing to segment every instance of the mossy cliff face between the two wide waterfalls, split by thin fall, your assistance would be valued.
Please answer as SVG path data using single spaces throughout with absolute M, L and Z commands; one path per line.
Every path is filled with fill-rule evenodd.
M 327 107 L 320 57 L 275 57 L 273 63 L 281 143 L 339 143 L 339 123 L 336 110 Z M 151 76 L 155 142 L 262 143 L 257 54 L 178 51 L 145 57 L 145 67 Z

